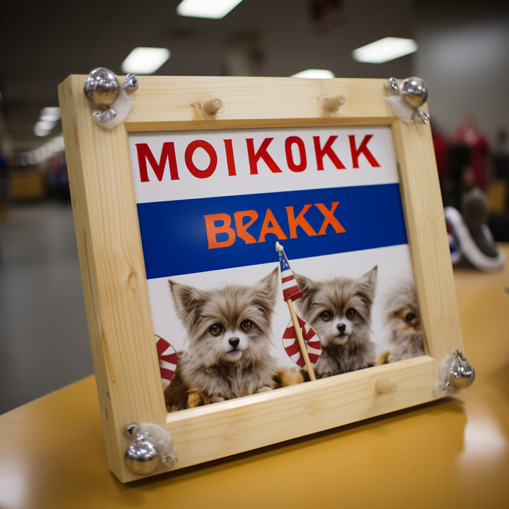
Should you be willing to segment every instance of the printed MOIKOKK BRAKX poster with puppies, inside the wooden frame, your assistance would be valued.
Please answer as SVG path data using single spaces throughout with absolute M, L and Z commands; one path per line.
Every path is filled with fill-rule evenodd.
M 168 411 L 424 353 L 389 127 L 128 137 Z

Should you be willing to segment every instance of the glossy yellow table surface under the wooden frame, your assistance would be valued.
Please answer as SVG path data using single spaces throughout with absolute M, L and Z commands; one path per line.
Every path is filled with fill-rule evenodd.
M 509 262 L 455 279 L 457 397 L 122 485 L 90 377 L 0 416 L 0 507 L 509 507 Z

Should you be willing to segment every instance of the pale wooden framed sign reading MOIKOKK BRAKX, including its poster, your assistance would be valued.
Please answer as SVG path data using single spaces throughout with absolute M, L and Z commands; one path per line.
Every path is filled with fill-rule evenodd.
M 140 77 L 109 130 L 85 79 L 59 97 L 122 482 L 131 422 L 183 468 L 435 399 L 462 336 L 431 130 L 385 80 Z

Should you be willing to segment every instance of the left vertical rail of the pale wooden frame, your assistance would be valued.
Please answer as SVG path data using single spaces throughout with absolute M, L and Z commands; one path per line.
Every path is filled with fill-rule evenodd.
M 83 293 L 108 463 L 121 480 L 123 428 L 166 417 L 130 171 L 127 133 L 100 128 L 82 79 L 59 87 Z

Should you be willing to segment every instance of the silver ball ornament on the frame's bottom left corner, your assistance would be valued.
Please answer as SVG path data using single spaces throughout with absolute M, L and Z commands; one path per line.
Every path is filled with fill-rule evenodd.
M 163 428 L 150 422 L 131 423 L 124 435 L 132 439 L 125 454 L 127 469 L 136 475 L 149 475 L 159 464 L 171 470 L 177 462 L 172 436 Z

